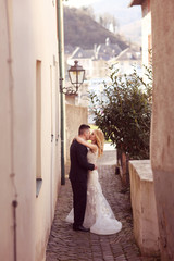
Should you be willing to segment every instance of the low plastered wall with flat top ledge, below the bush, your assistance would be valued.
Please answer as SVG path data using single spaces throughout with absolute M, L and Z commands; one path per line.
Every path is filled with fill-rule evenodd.
M 145 256 L 159 256 L 159 227 L 150 160 L 129 161 L 134 236 Z

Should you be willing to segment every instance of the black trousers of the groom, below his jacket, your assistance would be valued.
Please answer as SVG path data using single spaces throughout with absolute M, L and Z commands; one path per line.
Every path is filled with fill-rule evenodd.
M 86 210 L 87 183 L 71 181 L 73 189 L 74 227 L 83 225 Z

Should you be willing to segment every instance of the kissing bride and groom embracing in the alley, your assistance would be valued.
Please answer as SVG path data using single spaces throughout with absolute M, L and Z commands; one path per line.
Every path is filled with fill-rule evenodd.
M 88 140 L 91 142 L 88 142 Z M 121 231 L 119 222 L 102 194 L 97 159 L 103 153 L 104 135 L 100 129 L 90 134 L 90 126 L 82 124 L 70 148 L 69 178 L 73 190 L 73 209 L 66 222 L 74 231 L 111 235 Z

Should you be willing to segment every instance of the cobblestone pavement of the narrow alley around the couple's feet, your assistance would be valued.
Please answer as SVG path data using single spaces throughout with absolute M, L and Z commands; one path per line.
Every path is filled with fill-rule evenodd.
M 135 243 L 129 191 L 122 187 L 120 176 L 115 175 L 111 151 L 104 152 L 98 171 L 103 194 L 116 219 L 122 222 L 122 231 L 110 236 L 74 232 L 72 225 L 64 221 L 72 209 L 72 189 L 66 179 L 58 197 L 46 261 L 157 261 L 156 258 L 141 257 Z

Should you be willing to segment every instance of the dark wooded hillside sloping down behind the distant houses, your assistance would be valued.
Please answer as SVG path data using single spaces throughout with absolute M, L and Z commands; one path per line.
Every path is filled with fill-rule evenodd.
M 92 49 L 95 44 L 104 44 L 108 37 L 112 44 L 117 44 L 122 50 L 127 47 L 126 41 L 121 36 L 104 28 L 95 21 L 92 15 L 82 9 L 64 7 L 65 46 Z

